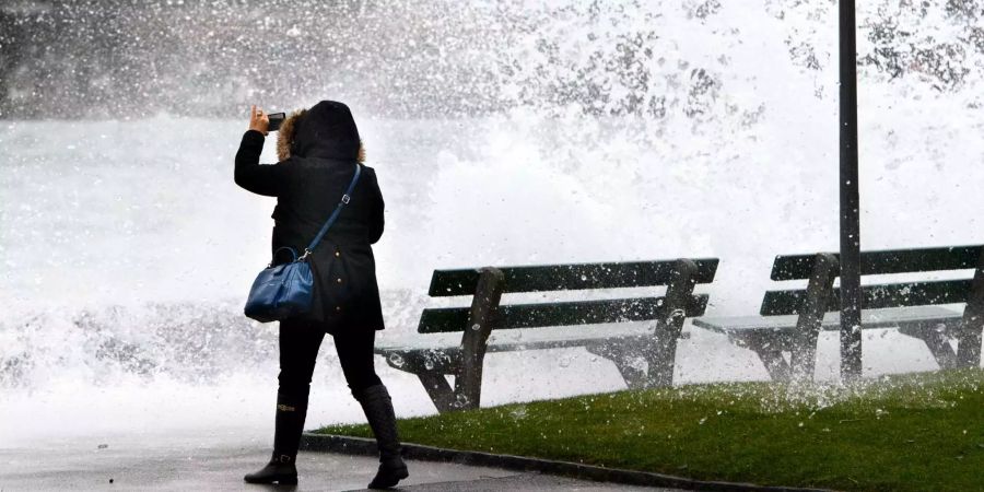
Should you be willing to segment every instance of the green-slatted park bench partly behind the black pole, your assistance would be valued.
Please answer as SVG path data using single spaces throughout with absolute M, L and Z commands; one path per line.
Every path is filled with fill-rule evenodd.
M 840 330 L 835 254 L 778 256 L 772 280 L 808 280 L 806 289 L 765 293 L 759 316 L 705 317 L 693 325 L 725 333 L 753 350 L 776 380 L 812 378 L 820 330 Z M 860 274 L 976 269 L 972 279 L 923 280 L 862 286 L 862 328 L 897 327 L 926 343 L 940 367 L 977 366 L 984 325 L 981 246 L 865 251 Z M 917 276 L 916 276 L 917 277 Z M 965 304 L 963 312 L 942 307 Z M 950 338 L 958 341 L 954 352 Z M 789 361 L 783 353 L 789 352 Z

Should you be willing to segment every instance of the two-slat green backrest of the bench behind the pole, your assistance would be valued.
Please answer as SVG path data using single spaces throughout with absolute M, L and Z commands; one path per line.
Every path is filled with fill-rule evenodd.
M 975 269 L 981 260 L 982 246 L 956 246 L 921 249 L 864 251 L 860 255 L 860 274 L 889 274 Z M 839 256 L 835 254 L 777 256 L 772 266 L 772 280 L 810 279 L 817 272 L 818 258 L 832 258 L 836 277 Z M 972 279 L 937 280 L 922 282 L 882 283 L 862 286 L 862 308 L 924 306 L 965 303 L 972 291 Z M 828 290 L 823 308 L 840 309 L 840 289 Z M 763 316 L 799 314 L 805 308 L 807 289 L 769 291 L 762 300 Z

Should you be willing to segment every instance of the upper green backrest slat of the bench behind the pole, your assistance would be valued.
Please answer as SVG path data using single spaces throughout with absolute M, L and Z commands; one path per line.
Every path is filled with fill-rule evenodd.
M 980 245 L 863 251 L 860 255 L 860 274 L 871 276 L 976 268 L 980 254 Z M 833 255 L 840 260 L 839 255 Z M 809 279 L 813 270 L 816 256 L 788 255 L 775 257 L 775 262 L 772 265 L 772 280 Z

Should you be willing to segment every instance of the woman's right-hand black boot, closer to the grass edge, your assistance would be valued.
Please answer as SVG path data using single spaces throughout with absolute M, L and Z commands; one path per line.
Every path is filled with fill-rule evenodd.
M 353 391 L 355 399 L 362 403 L 365 419 L 368 420 L 376 444 L 379 447 L 379 470 L 370 482 L 370 489 L 388 489 L 410 476 L 403 457 L 400 456 L 400 438 L 396 429 L 396 415 L 393 412 L 393 400 L 386 386 L 375 385 Z

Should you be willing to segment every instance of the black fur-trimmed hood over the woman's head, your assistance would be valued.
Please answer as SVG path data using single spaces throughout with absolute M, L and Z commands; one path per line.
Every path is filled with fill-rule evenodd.
M 352 112 L 337 101 L 321 101 L 311 109 L 291 114 L 277 137 L 281 161 L 291 155 L 354 161 L 359 148 L 359 128 Z

